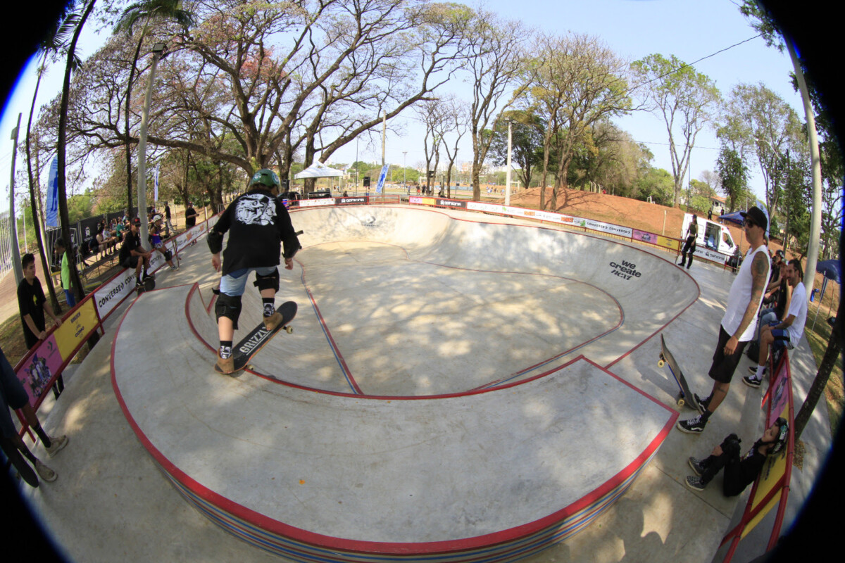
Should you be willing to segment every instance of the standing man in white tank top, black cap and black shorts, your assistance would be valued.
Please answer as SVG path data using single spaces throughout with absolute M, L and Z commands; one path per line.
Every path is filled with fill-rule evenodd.
M 708 374 L 713 380 L 713 388 L 710 396 L 699 400 L 701 414 L 690 420 L 678 421 L 678 429 L 683 432 L 697 434 L 704 430 L 710 415 L 728 396 L 733 372 L 739 365 L 745 344 L 755 336 L 757 314 L 763 303 L 763 292 L 771 268 L 769 251 L 764 241 L 768 218 L 756 207 L 741 215 L 745 219 L 743 230 L 750 249 L 728 292 L 728 306 L 719 327 L 719 342 Z

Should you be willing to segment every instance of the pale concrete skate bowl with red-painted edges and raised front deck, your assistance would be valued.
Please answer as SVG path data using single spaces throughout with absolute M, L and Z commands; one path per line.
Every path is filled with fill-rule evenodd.
M 606 369 L 697 297 L 662 258 L 414 208 L 292 219 L 302 266 L 277 301 L 300 312 L 255 373 L 211 370 L 196 285 L 141 295 L 113 344 L 139 440 L 237 537 L 303 561 L 521 559 L 611 506 L 677 420 Z

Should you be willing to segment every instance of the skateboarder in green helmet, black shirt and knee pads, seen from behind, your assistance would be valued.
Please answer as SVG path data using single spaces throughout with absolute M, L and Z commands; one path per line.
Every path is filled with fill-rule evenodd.
M 229 241 L 223 252 L 220 295 L 215 304 L 220 348 L 217 367 L 222 373 L 234 371 L 232 338 L 241 314 L 241 296 L 250 272 L 255 272 L 255 286 L 264 306 L 264 326 L 272 330 L 281 323 L 275 311 L 275 293 L 279 290 L 279 254 L 284 245 L 285 268 L 293 269 L 293 257 L 301 248 L 291 217 L 276 199 L 279 176 L 268 168 L 255 172 L 249 191 L 229 204 L 217 224 L 209 231 L 211 265 L 221 269 L 223 235 Z

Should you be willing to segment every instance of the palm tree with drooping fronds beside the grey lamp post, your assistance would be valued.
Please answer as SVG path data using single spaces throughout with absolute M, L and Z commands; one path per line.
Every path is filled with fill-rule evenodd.
M 132 210 L 132 155 L 129 150 L 129 100 L 132 96 L 132 83 L 135 76 L 135 66 L 138 63 L 138 57 L 141 52 L 141 44 L 147 32 L 150 30 L 150 23 L 152 20 L 159 21 L 171 20 L 187 29 L 194 25 L 194 14 L 182 9 L 182 0 L 141 0 L 129 5 L 123 10 L 120 19 L 114 26 L 114 33 L 126 32 L 128 35 L 134 34 L 134 29 L 141 21 L 144 22 L 144 27 L 141 28 L 141 34 L 138 38 L 138 46 L 135 48 L 135 55 L 132 59 L 132 66 L 129 68 L 129 79 L 126 84 L 126 110 L 123 114 L 124 129 L 126 131 L 126 208 L 127 214 Z M 138 179 L 139 186 L 142 184 L 146 186 L 143 178 Z M 139 214 L 141 210 L 139 209 Z

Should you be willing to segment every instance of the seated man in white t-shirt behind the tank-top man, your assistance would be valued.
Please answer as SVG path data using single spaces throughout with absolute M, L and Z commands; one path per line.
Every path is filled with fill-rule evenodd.
M 744 376 L 743 382 L 749 387 L 760 387 L 763 376 L 766 375 L 766 360 L 769 358 L 769 348 L 793 349 L 804 334 L 804 324 L 807 322 L 807 290 L 804 288 L 804 270 L 801 262 L 793 258 L 789 261 L 785 273 L 788 284 L 793 288 L 792 301 L 789 304 L 787 317 L 781 322 L 772 322 L 760 331 L 760 356 L 757 365 L 750 365 L 751 376 Z

